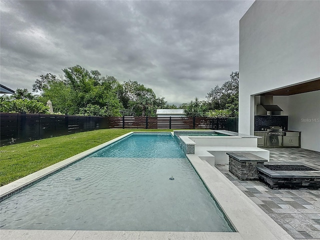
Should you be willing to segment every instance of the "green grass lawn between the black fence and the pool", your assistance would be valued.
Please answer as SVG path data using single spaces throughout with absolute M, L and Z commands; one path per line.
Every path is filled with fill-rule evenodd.
M 172 130 L 100 129 L 1 146 L 0 185 L 5 185 L 130 131 Z

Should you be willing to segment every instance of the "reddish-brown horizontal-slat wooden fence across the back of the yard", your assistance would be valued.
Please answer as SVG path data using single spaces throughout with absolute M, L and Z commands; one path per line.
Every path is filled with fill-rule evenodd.
M 238 131 L 237 117 L 108 117 L 111 128 L 194 129 Z

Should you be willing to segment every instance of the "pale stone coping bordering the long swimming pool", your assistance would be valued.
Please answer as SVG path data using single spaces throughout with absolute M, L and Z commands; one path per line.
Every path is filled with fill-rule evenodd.
M 46 174 L 63 168 L 83 158 L 91 152 L 113 143 L 132 133 L 150 133 L 131 131 L 110 141 L 102 143 L 84 152 L 76 154 L 42 170 L 22 177 L 7 185 L 0 187 L 0 196 L 8 194 L 30 182 L 36 181 Z M 152 132 L 164 133 L 164 132 Z M 170 132 L 172 134 L 172 132 Z M 230 182 L 218 169 L 211 166 L 205 160 L 195 154 L 187 154 L 196 172 L 201 176 L 207 189 L 214 196 L 224 213 L 229 218 L 236 232 L 179 232 L 179 231 L 88 231 L 88 230 L 22 230 L 1 229 L 1 239 L 233 239 L 233 240 L 256 240 L 256 239 L 293 239 L 263 210 L 251 201 L 241 190 Z M 236 201 L 234 200 L 236 198 Z

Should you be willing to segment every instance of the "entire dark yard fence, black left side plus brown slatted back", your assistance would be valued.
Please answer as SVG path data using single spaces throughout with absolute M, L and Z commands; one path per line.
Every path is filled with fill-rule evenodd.
M 195 129 L 238 131 L 237 117 L 99 117 L 0 113 L 0 144 L 25 142 L 103 128 Z

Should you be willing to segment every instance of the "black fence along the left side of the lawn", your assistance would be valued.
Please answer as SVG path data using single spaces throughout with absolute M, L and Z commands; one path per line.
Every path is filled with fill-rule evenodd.
M 108 127 L 108 119 L 99 116 L 1 112 L 0 144 L 7 145 Z

